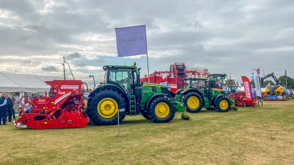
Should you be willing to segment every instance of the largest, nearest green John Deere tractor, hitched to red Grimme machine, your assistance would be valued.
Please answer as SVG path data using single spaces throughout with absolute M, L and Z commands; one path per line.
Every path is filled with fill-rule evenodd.
M 140 69 L 136 63 L 103 67 L 105 80 L 91 92 L 87 102 L 87 114 L 94 124 L 117 124 L 118 115 L 121 122 L 126 115 L 140 113 L 155 123 L 170 122 L 176 111 L 183 111 L 183 103 L 172 101 L 170 87 L 140 83 Z

